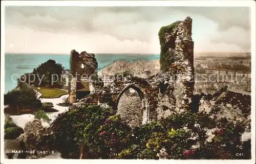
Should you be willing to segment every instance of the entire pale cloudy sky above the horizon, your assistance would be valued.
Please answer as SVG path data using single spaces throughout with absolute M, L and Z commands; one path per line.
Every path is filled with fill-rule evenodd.
M 6 7 L 5 51 L 159 54 L 159 29 L 187 16 L 195 52 L 250 52 L 247 7 L 65 6 Z

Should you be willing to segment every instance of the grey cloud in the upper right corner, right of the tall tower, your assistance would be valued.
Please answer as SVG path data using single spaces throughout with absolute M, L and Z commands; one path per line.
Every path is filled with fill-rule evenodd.
M 183 9 L 186 13 L 196 13 L 217 23 L 217 32 L 211 43 L 236 45 L 250 51 L 250 10 L 248 7 L 198 7 Z

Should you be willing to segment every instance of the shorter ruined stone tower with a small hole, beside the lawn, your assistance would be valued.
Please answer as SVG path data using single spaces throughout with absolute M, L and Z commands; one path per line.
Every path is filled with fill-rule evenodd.
M 94 54 L 81 52 L 80 54 L 75 50 L 70 53 L 70 76 L 69 76 L 69 94 L 70 103 L 75 103 L 81 95 L 88 95 L 89 78 L 97 74 L 98 63 Z

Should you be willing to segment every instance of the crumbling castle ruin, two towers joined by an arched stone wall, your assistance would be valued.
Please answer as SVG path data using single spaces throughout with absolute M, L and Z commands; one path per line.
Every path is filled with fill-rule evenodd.
M 186 17 L 183 21 L 162 27 L 159 31 L 161 45 L 161 72 L 148 79 L 133 75 L 115 78 L 110 84 L 103 86 L 97 76 L 97 61 L 94 54 L 71 52 L 71 79 L 69 85 L 70 102 L 77 102 L 79 85 L 82 82 L 75 74 L 95 74 L 89 78 L 87 85 L 90 95 L 79 102 L 89 104 L 108 104 L 117 109 L 122 94 L 135 89 L 142 100 L 142 124 L 165 117 L 172 112 L 190 110 L 194 91 L 194 42 L 191 38 L 192 19 Z M 129 115 L 121 115 L 129 120 Z

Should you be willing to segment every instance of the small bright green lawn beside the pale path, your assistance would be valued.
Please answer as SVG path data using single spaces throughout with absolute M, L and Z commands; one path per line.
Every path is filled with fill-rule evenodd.
M 58 88 L 39 87 L 40 89 L 38 89 L 36 86 L 33 86 L 33 88 L 42 94 L 41 98 L 59 98 L 62 95 L 68 94 L 66 90 Z

